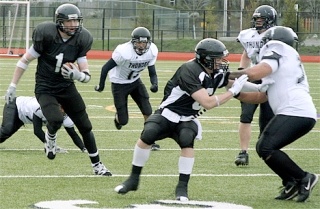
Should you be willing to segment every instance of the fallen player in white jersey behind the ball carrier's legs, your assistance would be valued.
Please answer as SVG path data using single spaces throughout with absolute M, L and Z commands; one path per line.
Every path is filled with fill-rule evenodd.
M 63 112 L 63 109 L 61 111 Z M 16 97 L 13 102 L 4 105 L 0 128 L 0 143 L 11 137 L 25 124 L 33 124 L 33 133 L 45 143 L 45 133 L 42 130 L 42 126 L 46 123 L 47 119 L 43 116 L 40 105 L 35 97 Z M 74 129 L 74 123 L 67 114 L 64 114 L 62 125 L 72 138 L 73 143 L 82 152 L 86 152 L 82 140 Z M 65 153 L 67 151 L 57 146 L 56 152 Z

